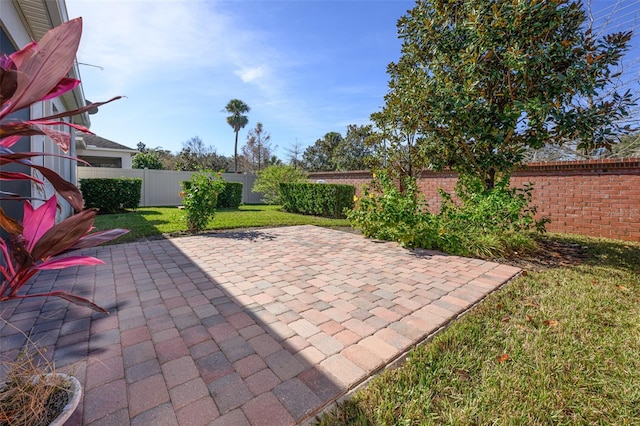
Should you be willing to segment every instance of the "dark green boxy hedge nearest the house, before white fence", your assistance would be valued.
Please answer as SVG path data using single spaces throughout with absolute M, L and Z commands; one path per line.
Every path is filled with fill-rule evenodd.
M 85 207 L 96 208 L 100 213 L 117 213 L 140 205 L 140 178 L 80 179 L 79 183 Z

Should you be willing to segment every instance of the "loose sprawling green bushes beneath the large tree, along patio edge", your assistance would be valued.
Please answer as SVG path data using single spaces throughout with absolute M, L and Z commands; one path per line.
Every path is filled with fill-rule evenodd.
M 439 249 L 460 256 L 495 257 L 526 252 L 536 246 L 547 219 L 536 221 L 530 206 L 532 186 L 510 188 L 509 181 L 491 190 L 482 183 L 460 178 L 455 194 L 440 191 L 442 208 L 429 213 L 415 179 L 397 182 L 376 176 L 347 217 L 368 237 L 396 241 L 407 247 Z

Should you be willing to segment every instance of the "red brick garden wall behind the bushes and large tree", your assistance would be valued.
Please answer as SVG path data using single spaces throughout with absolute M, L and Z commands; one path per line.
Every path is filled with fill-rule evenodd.
M 359 188 L 369 172 L 311 173 L 312 181 L 344 183 Z M 423 173 L 418 185 L 432 211 L 440 208 L 438 188 L 452 192 L 455 173 Z M 533 203 L 547 216 L 550 232 L 640 241 L 640 158 L 530 163 L 514 173 L 521 187 L 534 183 Z

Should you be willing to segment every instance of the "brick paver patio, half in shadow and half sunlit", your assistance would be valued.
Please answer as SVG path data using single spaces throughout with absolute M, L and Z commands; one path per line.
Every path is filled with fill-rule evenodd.
M 48 346 L 84 386 L 68 424 L 289 425 L 337 398 L 519 269 L 409 251 L 313 226 L 85 250 L 106 265 L 47 271 L 0 304 L 0 354 Z M 14 328 L 16 327 L 16 328 Z

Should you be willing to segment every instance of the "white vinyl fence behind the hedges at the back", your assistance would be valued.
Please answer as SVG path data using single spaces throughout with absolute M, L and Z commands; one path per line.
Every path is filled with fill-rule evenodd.
M 194 172 L 149 169 L 116 169 L 110 167 L 78 167 L 78 181 L 91 178 L 141 178 L 140 207 L 178 206 L 182 199 L 180 182 L 190 180 Z M 260 204 L 262 195 L 251 192 L 256 176 L 252 174 L 223 173 L 227 182 L 242 182 L 242 202 Z

